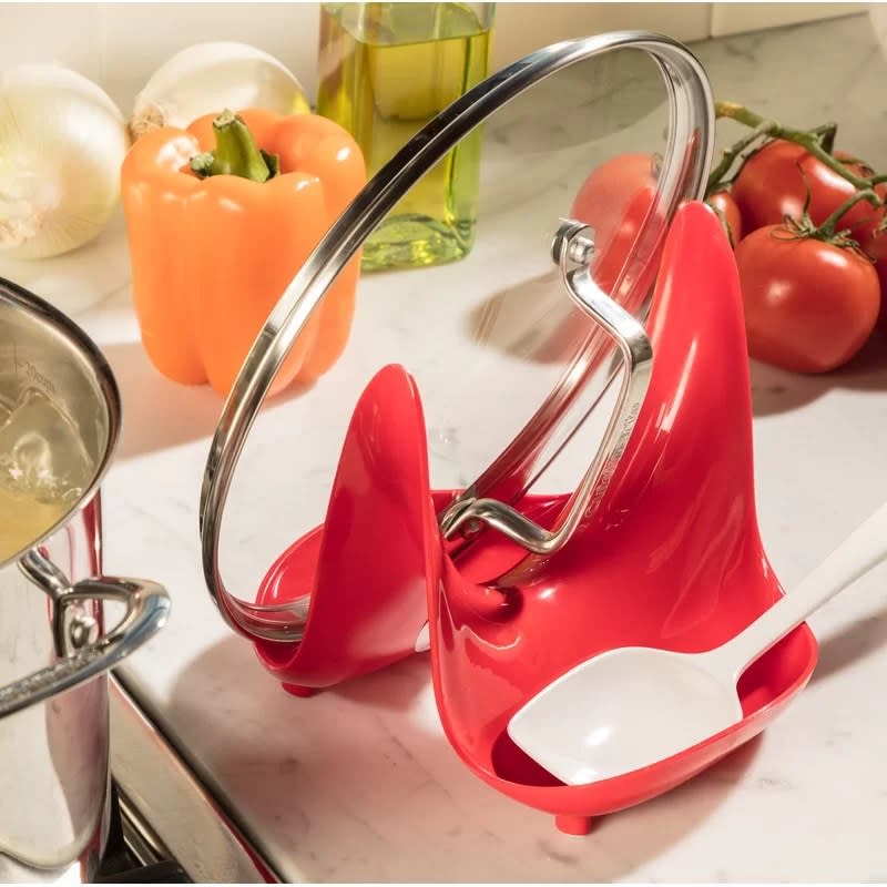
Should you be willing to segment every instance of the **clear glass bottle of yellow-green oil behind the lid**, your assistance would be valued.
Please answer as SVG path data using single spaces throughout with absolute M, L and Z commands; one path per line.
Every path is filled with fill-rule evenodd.
M 323 3 L 317 111 L 354 135 L 378 170 L 431 118 L 487 77 L 492 3 Z M 480 130 L 395 206 L 364 247 L 365 269 L 468 254 Z

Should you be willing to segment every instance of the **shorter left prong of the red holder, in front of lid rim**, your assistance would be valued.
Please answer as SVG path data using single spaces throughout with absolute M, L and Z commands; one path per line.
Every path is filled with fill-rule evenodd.
M 266 575 L 263 604 L 312 594 L 299 644 L 258 642 L 262 662 L 297 694 L 414 652 L 427 618 L 428 450 L 416 386 L 381 369 L 351 417 L 324 524 Z

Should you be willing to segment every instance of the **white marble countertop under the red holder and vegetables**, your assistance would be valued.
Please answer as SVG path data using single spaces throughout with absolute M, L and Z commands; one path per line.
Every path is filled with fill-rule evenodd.
M 839 144 L 887 165 L 887 62 L 866 17 L 695 50 L 718 98 L 796 124 L 834 119 Z M 502 236 L 511 224 L 519 223 L 504 216 Z M 479 247 L 490 251 L 479 255 L 497 273 L 471 278 L 478 297 L 502 276 L 519 283 L 529 273 L 512 243 Z M 235 588 L 254 589 L 323 513 L 346 407 L 389 359 L 387 346 L 398 340 L 399 354 L 419 364 L 446 357 L 434 338 L 405 343 L 418 320 L 410 327 L 402 318 L 417 310 L 419 287 L 437 296 L 424 305 L 445 312 L 447 294 L 466 289 L 465 274 L 453 265 L 366 277 L 355 341 L 366 341 L 370 328 L 390 341 L 358 344 L 353 357 L 349 346 L 320 385 L 265 410 L 225 531 L 224 568 Z M 590 836 L 568 837 L 463 767 L 440 730 L 425 655 L 297 700 L 222 622 L 204 590 L 196 519 L 221 399 L 175 386 L 147 363 L 120 220 L 67 264 L 19 268 L 18 279 L 48 297 L 85 298 L 90 287 L 104 296 L 77 319 L 105 350 L 124 399 L 124 436 L 103 491 L 105 568 L 162 581 L 174 602 L 169 625 L 125 664 L 128 683 L 285 879 L 887 880 L 887 571 L 870 573 L 810 621 L 819 665 L 765 735 L 665 796 L 603 818 Z M 885 499 L 887 344 L 873 341 L 827 378 L 753 365 L 752 380 L 762 534 L 791 589 Z M 496 417 L 453 405 L 442 386 L 422 392 L 440 401 L 439 418 L 432 411 L 429 419 L 432 469 L 441 482 L 465 482 L 465 463 L 498 446 L 470 432 Z M 448 425 L 455 407 L 461 424 Z M 482 445 L 477 451 L 471 439 Z

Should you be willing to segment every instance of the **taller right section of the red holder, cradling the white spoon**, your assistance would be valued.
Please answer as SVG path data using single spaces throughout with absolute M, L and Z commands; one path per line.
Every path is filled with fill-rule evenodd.
M 603 507 L 569 546 L 527 558 L 500 581 L 510 616 L 492 622 L 483 612 L 489 590 L 469 581 L 486 571 L 480 562 L 457 568 L 445 555 L 430 601 L 435 691 L 450 743 L 495 788 L 554 814 L 616 810 L 684 782 L 763 730 L 816 663 L 816 642 L 802 625 L 743 675 L 741 723 L 591 785 L 562 785 L 509 740 L 514 711 L 588 656 L 633 644 L 706 650 L 782 593 L 754 507 L 735 264 L 700 204 L 672 224 L 649 329 L 650 389 Z M 480 547 L 473 558 L 482 560 Z

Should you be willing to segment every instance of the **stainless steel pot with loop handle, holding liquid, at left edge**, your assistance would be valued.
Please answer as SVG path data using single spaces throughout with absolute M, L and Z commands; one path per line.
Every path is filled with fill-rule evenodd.
M 169 611 L 155 583 L 102 575 L 99 483 L 119 432 L 120 395 L 96 347 L 0 279 L 3 881 L 95 875 L 108 829 L 106 672 Z

